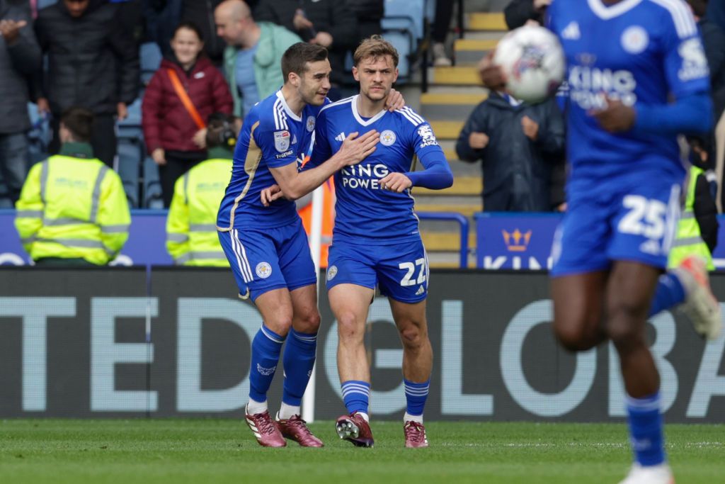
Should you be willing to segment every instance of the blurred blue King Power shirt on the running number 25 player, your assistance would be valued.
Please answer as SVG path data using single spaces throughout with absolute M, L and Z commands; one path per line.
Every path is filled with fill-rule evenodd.
M 610 134 L 590 111 L 605 107 L 605 94 L 637 107 L 708 91 L 707 60 L 684 1 L 554 0 L 547 17 L 566 54 L 570 194 L 610 192 L 623 179 L 682 179 L 674 136 Z

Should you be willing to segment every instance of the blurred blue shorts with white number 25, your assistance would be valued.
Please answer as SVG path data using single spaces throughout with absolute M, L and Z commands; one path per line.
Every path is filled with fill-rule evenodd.
M 676 234 L 680 185 L 671 179 L 622 184 L 605 194 L 571 194 L 552 246 L 552 276 L 605 271 L 612 261 L 666 268 Z

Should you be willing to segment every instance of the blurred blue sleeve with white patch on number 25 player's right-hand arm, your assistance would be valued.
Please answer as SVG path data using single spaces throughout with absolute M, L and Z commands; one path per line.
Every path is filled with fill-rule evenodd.
M 662 34 L 668 90 L 676 98 L 706 92 L 710 89 L 710 70 L 692 13 L 683 3 L 669 14 Z

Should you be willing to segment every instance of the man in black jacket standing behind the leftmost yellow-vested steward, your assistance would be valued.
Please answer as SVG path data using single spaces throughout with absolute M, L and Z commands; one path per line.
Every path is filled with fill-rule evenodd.
M 116 13 L 117 5 L 103 0 L 62 0 L 38 12 L 38 41 L 49 60 L 38 109 L 53 115 L 51 153 L 59 149 L 60 113 L 78 105 L 95 115 L 96 157 L 113 165 L 114 116 L 126 117 L 139 84 L 138 49 Z

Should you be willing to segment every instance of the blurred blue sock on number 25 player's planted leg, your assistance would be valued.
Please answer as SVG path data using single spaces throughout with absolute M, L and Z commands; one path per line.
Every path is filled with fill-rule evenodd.
M 660 393 L 645 398 L 627 397 L 629 435 L 634 460 L 642 466 L 665 462 Z

